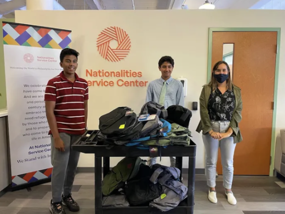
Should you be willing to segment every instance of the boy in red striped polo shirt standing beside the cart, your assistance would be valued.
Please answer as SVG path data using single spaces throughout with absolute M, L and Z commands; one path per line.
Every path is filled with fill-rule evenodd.
M 48 81 L 45 92 L 53 165 L 49 207 L 52 214 L 65 214 L 62 205 L 72 212 L 79 211 L 71 189 L 80 153 L 72 150 L 71 145 L 86 130 L 89 96 L 87 81 L 75 73 L 78 55 L 73 49 L 61 51 L 63 71 Z

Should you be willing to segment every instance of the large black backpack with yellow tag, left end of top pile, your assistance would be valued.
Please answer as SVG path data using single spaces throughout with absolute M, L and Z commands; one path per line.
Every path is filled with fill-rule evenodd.
M 138 139 L 143 124 L 129 107 L 117 107 L 99 118 L 98 138 L 110 144 L 123 145 Z

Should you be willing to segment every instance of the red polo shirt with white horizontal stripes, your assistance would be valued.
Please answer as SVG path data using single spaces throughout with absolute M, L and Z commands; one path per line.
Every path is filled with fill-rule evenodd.
M 64 76 L 63 71 L 48 81 L 45 101 L 55 101 L 54 115 L 58 132 L 74 135 L 85 132 L 84 101 L 88 98 L 87 81 L 76 73 L 74 83 Z

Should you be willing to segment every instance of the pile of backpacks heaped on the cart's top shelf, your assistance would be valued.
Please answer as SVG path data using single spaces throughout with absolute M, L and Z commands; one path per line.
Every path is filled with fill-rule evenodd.
M 137 115 L 130 107 L 117 107 L 99 117 L 97 141 L 103 145 L 167 147 L 190 145 L 189 109 L 174 105 L 163 106 L 148 102 Z M 150 119 L 147 119 L 150 118 Z

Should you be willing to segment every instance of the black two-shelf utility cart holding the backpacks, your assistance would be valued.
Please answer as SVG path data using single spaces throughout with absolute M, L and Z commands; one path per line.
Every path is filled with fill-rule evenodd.
M 110 157 L 150 157 L 150 151 L 138 149 L 135 146 L 112 146 L 99 145 L 96 142 L 98 130 L 88 130 L 76 142 L 72 149 L 86 154 L 95 154 L 95 214 L 148 214 L 149 207 L 102 207 L 102 158 L 103 175 L 110 170 Z M 180 205 L 167 214 L 193 214 L 194 209 L 194 186 L 195 186 L 195 156 L 196 145 L 190 141 L 190 146 L 157 147 L 159 157 L 176 157 L 176 167 L 182 172 L 183 157 L 188 157 L 188 197 Z M 185 181 L 185 180 L 184 180 Z M 162 213 L 162 212 L 159 212 Z

